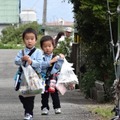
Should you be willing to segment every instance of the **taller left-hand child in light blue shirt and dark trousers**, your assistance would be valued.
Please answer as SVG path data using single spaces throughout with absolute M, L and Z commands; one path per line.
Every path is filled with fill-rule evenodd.
M 20 50 L 15 57 L 15 64 L 20 66 L 24 62 L 26 62 L 27 65 L 31 65 L 35 71 L 40 73 L 40 64 L 42 62 L 42 51 L 39 49 L 36 49 L 31 56 L 28 54 L 31 50 L 35 48 L 35 44 L 37 41 L 37 33 L 32 28 L 27 28 L 23 34 L 22 34 L 23 42 L 25 44 L 24 48 L 24 55 L 22 50 Z M 23 104 L 24 108 L 24 120 L 32 120 L 33 119 L 33 108 L 34 108 L 34 99 L 35 96 L 31 97 L 23 97 L 22 95 L 19 95 L 19 99 L 21 103 Z

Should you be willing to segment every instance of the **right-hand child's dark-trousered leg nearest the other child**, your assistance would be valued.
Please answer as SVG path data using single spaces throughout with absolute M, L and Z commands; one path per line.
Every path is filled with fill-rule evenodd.
M 43 108 L 47 108 L 49 110 L 48 99 L 49 99 L 49 92 L 44 92 L 44 94 L 41 94 L 41 103 L 42 103 L 41 110 Z

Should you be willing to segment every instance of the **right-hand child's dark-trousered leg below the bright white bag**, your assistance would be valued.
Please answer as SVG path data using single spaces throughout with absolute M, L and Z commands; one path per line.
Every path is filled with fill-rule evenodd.
M 53 101 L 53 108 L 61 108 L 60 106 L 60 99 L 58 95 L 58 90 L 55 90 L 54 93 L 51 93 L 52 101 Z

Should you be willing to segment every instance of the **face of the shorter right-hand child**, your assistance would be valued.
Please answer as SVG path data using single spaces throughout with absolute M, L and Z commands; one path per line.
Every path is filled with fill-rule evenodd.
M 45 54 L 51 54 L 53 52 L 54 46 L 51 41 L 45 41 L 42 44 L 42 49 Z

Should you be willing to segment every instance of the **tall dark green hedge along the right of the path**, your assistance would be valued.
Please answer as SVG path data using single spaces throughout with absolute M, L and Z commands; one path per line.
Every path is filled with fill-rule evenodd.
M 86 94 L 94 86 L 95 80 L 104 81 L 110 89 L 115 76 L 113 56 L 110 53 L 110 30 L 107 14 L 107 0 L 69 0 L 74 5 L 75 21 L 81 37 L 82 57 L 86 73 L 82 77 L 82 87 Z M 116 12 L 117 1 L 110 0 L 110 10 Z M 117 41 L 117 15 L 111 16 L 113 38 Z M 82 58 L 83 59 L 83 58 Z M 81 63 L 82 64 L 82 63 Z M 108 90 L 109 91 L 109 90 Z

